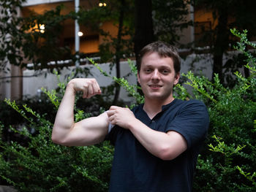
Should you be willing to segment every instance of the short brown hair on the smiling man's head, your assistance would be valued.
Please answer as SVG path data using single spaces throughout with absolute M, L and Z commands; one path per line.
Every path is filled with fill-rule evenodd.
M 169 45 L 165 42 L 151 42 L 150 44 L 143 47 L 142 50 L 140 50 L 137 69 L 138 72 L 140 72 L 140 65 L 141 61 L 143 59 L 143 56 L 147 53 L 158 53 L 161 57 L 169 57 L 173 59 L 173 67 L 175 70 L 175 73 L 178 74 L 181 70 L 181 58 L 178 55 L 178 50 L 173 45 Z

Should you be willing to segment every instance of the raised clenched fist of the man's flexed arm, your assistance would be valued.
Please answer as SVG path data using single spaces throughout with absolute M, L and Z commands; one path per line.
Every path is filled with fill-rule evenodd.
M 101 94 L 99 84 L 95 79 L 76 78 L 72 79 L 68 83 L 68 87 L 72 88 L 74 93 L 83 91 L 83 98 L 90 98 L 97 94 Z

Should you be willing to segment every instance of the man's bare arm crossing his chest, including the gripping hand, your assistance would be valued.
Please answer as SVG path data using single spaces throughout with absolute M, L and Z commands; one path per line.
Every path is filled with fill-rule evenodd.
M 135 118 L 127 108 L 112 106 L 108 117 L 111 124 L 129 129 L 141 145 L 162 160 L 172 160 L 187 150 L 187 142 L 181 134 L 176 131 L 154 131 Z

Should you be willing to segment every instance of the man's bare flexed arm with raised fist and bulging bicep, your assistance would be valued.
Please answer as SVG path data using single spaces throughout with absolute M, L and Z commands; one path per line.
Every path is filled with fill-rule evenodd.
M 83 98 L 101 93 L 95 79 L 73 79 L 67 84 L 52 132 L 53 142 L 60 145 L 94 145 L 102 142 L 108 134 L 109 120 L 106 112 L 97 117 L 74 122 L 75 93 L 78 91 L 83 91 Z

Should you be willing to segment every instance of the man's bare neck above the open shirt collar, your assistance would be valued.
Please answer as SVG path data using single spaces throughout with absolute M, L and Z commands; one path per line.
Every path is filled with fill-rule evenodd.
M 145 103 L 143 106 L 143 110 L 146 112 L 150 119 L 154 118 L 159 112 L 162 111 L 162 106 L 166 104 L 170 104 L 174 100 L 173 97 L 167 99 L 166 101 L 159 100 L 149 100 L 145 98 Z

